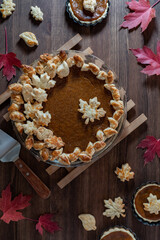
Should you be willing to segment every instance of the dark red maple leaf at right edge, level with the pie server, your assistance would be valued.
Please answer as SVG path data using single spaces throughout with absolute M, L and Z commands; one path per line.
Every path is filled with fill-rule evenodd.
M 140 142 L 137 148 L 147 148 L 143 155 L 145 165 L 153 161 L 156 153 L 160 158 L 160 139 L 157 140 L 153 136 L 147 136 Z

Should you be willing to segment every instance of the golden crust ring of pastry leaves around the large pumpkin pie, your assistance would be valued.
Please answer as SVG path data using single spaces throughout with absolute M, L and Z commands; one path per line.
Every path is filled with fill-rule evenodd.
M 48 127 L 52 121 L 53 113 L 50 114 L 49 111 L 44 112 L 43 110 L 45 102 L 47 103 L 48 100 L 49 91 L 58 84 L 55 81 L 55 76 L 58 76 L 59 81 L 63 83 L 71 69 L 74 70 L 74 67 L 78 71 L 91 72 L 94 81 L 101 82 L 102 87 L 104 86 L 103 91 L 108 91 L 111 95 L 111 101 L 108 102 L 108 105 L 112 108 L 113 115 L 108 117 L 106 113 L 103 117 L 108 119 L 108 127 L 97 130 L 96 141 L 88 141 L 85 149 L 75 146 L 72 152 L 65 152 L 63 138 L 56 136 Z M 19 83 L 9 86 L 12 104 L 8 111 L 17 130 L 21 134 L 27 135 L 26 147 L 38 150 L 44 161 L 58 160 L 63 165 L 70 165 L 77 160 L 90 162 L 94 153 L 106 146 L 106 139 L 117 134 L 116 129 L 124 114 L 123 101 L 120 100 L 119 90 L 114 84 L 113 72 L 111 70 L 108 73 L 102 71 L 93 63 L 86 64 L 78 54 L 68 58 L 65 51 L 59 52 L 56 56 L 43 54 L 39 61 L 36 61 L 34 67 L 22 65 L 22 69 L 23 74 Z M 77 106 L 77 114 L 81 114 L 78 113 L 78 109 L 79 106 Z M 81 118 L 81 121 L 84 124 L 84 119 Z

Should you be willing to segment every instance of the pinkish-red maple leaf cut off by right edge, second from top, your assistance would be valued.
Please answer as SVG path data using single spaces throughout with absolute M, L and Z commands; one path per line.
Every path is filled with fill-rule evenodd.
M 157 42 L 157 55 L 146 46 L 143 48 L 131 49 L 132 53 L 137 57 L 137 61 L 147 64 L 141 72 L 148 75 L 160 75 L 160 41 Z

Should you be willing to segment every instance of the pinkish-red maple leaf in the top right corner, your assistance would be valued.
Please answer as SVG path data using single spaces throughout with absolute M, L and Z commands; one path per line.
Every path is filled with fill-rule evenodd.
M 153 7 L 158 3 L 157 1 L 153 6 L 150 6 L 149 0 L 131 0 L 126 4 L 133 12 L 124 17 L 124 22 L 121 27 L 128 28 L 129 30 L 141 24 L 142 32 L 146 30 L 152 18 L 156 17 L 156 12 Z

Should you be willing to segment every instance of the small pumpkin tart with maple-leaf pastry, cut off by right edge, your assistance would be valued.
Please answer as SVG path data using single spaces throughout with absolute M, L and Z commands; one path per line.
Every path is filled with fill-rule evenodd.
M 148 183 L 140 187 L 134 195 L 133 208 L 144 224 L 160 224 L 160 185 Z

